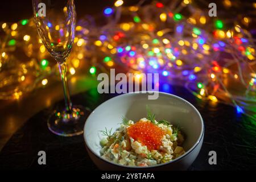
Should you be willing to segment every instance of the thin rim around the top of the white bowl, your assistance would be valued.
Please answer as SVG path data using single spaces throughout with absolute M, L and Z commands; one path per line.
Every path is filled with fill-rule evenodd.
M 153 92 L 155 93 L 155 92 L 158 92 L 158 91 L 153 91 Z M 153 92 L 151 91 L 150 94 L 152 94 Z M 110 101 L 110 100 L 114 100 L 114 99 L 116 99 L 117 97 L 123 97 L 123 96 L 126 96 L 127 94 L 144 94 L 144 93 L 145 93 L 145 92 L 142 93 L 141 91 L 137 91 L 137 92 L 129 92 L 129 93 L 125 93 L 125 94 L 120 94 L 120 95 L 118 95 L 118 96 L 112 97 L 112 98 L 110 98 L 109 100 L 106 100 L 106 101 L 102 102 L 100 105 L 98 105 L 98 106 L 92 111 L 92 113 L 90 113 L 89 117 L 88 117 L 88 118 L 86 119 L 86 121 L 85 121 L 83 137 L 84 137 L 84 140 L 85 140 L 86 148 L 88 148 L 88 149 L 90 150 L 90 152 L 92 152 L 98 159 L 101 159 L 101 160 L 103 160 L 104 162 L 107 162 L 107 163 L 109 163 L 109 164 L 113 164 L 114 166 L 118 166 L 118 167 L 122 167 L 122 168 L 130 168 L 130 169 L 156 168 L 156 167 L 165 166 L 165 165 L 167 165 L 167 164 L 174 163 L 174 162 L 176 162 L 177 160 L 183 159 L 185 156 L 187 156 L 189 153 L 191 153 L 191 152 L 198 146 L 198 144 L 201 142 L 201 139 L 203 139 L 203 137 L 204 137 L 204 130 L 205 130 L 205 129 L 204 129 L 204 121 L 203 121 L 203 118 L 201 117 L 201 114 L 200 114 L 199 111 L 196 109 L 196 107 L 193 106 L 193 105 L 192 105 L 190 102 L 188 102 L 187 100 L 184 100 L 184 98 L 181 98 L 181 97 L 179 97 L 179 96 L 175 96 L 174 94 L 165 93 L 165 92 L 158 92 L 158 93 L 160 93 L 160 94 L 164 94 L 164 95 L 167 95 L 167 96 L 175 97 L 175 98 L 178 98 L 179 100 L 182 100 L 182 101 L 186 102 L 186 104 L 188 104 L 189 106 L 191 106 L 191 107 L 196 111 L 196 113 L 199 115 L 199 118 L 200 118 L 200 122 L 201 122 L 202 127 L 201 127 L 201 131 L 200 131 L 199 138 L 196 140 L 196 143 L 193 144 L 193 146 L 192 146 L 188 151 L 186 151 L 185 154 L 183 154 L 183 155 L 177 157 L 176 159 L 171 160 L 170 162 L 167 162 L 167 163 L 156 164 L 156 165 L 154 165 L 154 166 L 144 166 L 144 167 L 140 167 L 140 166 L 124 166 L 124 165 L 117 164 L 117 163 L 111 162 L 111 161 L 109 161 L 109 160 L 106 160 L 106 159 L 102 158 L 100 155 L 96 154 L 96 152 L 94 152 L 94 151 L 92 150 L 92 148 L 89 146 L 89 144 L 88 144 L 88 142 L 87 142 L 87 139 L 86 139 L 86 137 L 85 137 L 85 134 L 86 134 L 86 133 L 85 133 L 86 123 L 87 123 L 88 119 L 91 117 L 91 115 L 94 113 L 94 111 L 95 111 L 96 109 L 98 109 L 98 107 L 100 107 L 102 104 L 105 104 L 105 102 L 108 102 L 108 101 Z M 146 93 L 148 93 L 148 92 L 146 92 Z

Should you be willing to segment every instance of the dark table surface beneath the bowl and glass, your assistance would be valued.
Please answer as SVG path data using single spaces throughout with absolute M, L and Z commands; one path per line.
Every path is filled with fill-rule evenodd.
M 232 106 L 212 105 L 197 100 L 180 86 L 170 86 L 164 91 L 191 102 L 204 119 L 204 143 L 189 170 L 256 169 L 256 128 L 253 121 L 244 115 L 238 115 Z M 97 88 L 92 88 L 76 94 L 72 99 L 76 104 L 94 109 L 114 96 L 98 94 Z M 55 105 L 61 105 L 63 102 L 57 102 Z M 65 138 L 49 132 L 46 119 L 52 107 L 39 111 L 28 119 L 10 138 L 0 152 L 0 169 L 97 170 L 85 150 L 82 135 Z M 41 150 L 46 151 L 47 164 L 40 166 L 38 151 Z M 217 165 L 208 163 L 208 153 L 212 150 L 217 152 Z

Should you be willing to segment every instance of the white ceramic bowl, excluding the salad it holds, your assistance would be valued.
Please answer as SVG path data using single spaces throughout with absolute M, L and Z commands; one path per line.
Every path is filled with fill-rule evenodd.
M 122 117 L 138 121 L 146 117 L 146 105 L 156 115 L 156 121 L 166 119 L 174 126 L 180 126 L 185 134 L 185 154 L 171 162 L 150 167 L 128 167 L 101 158 L 100 130 L 115 131 Z M 127 93 L 111 98 L 98 106 L 88 117 L 84 126 L 84 139 L 90 158 L 102 170 L 160 169 L 185 170 L 196 159 L 204 138 L 204 123 L 197 109 L 183 98 L 159 92 L 157 100 L 148 100 L 148 93 Z

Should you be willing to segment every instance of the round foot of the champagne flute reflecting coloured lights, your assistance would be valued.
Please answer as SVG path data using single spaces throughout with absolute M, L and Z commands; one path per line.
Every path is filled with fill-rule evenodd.
M 90 114 L 90 110 L 84 106 L 73 106 L 72 112 L 67 111 L 53 113 L 48 121 L 48 129 L 63 137 L 72 137 L 84 133 L 84 124 Z

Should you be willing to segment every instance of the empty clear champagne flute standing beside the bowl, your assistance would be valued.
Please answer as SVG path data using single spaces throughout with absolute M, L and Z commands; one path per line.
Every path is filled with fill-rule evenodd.
M 48 118 L 52 133 L 71 137 L 83 133 L 89 110 L 73 106 L 69 95 L 66 61 L 75 38 L 76 11 L 73 0 L 32 0 L 34 19 L 44 46 L 59 65 L 65 109 Z

